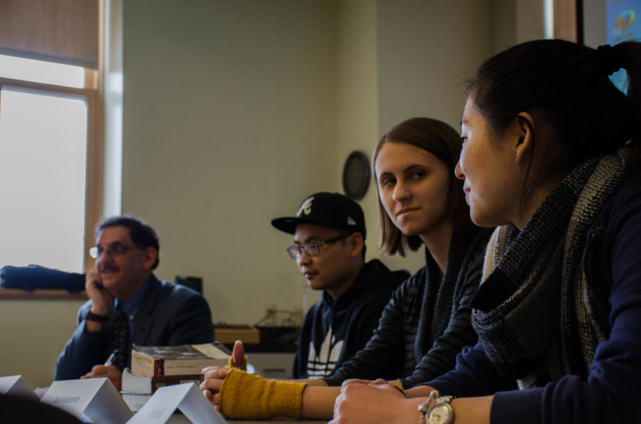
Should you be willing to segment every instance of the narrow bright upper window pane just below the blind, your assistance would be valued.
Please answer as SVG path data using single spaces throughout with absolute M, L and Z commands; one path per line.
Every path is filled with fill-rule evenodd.
M 85 87 L 85 70 L 82 66 L 7 55 L 0 55 L 0 77 L 73 88 Z

